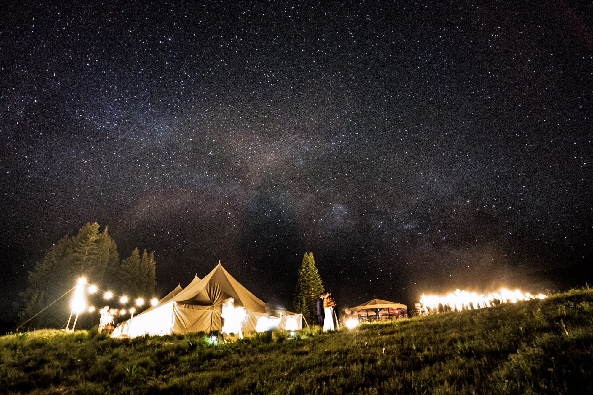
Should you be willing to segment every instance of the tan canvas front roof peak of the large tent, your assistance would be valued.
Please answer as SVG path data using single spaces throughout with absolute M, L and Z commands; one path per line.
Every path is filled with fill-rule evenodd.
M 205 278 L 186 286 L 173 300 L 182 304 L 216 305 L 225 298 L 235 299 L 235 306 L 248 311 L 266 311 L 266 304 L 235 280 L 220 263 Z

